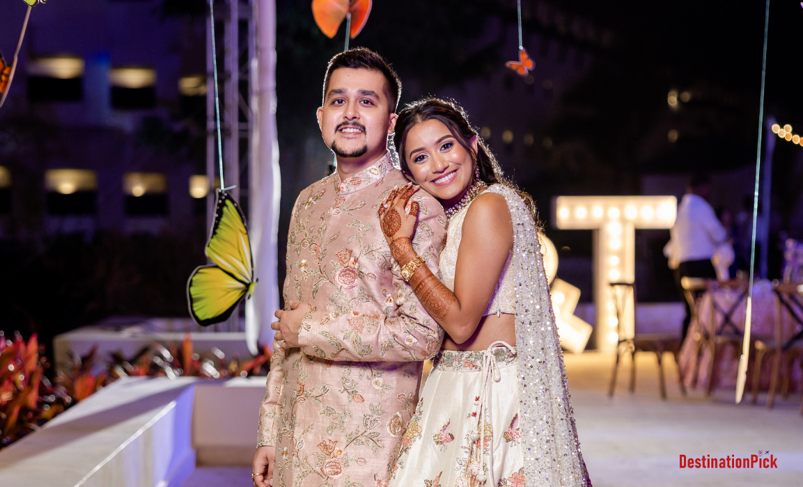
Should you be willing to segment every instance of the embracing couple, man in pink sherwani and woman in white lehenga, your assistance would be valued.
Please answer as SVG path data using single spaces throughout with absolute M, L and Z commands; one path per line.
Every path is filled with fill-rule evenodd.
M 368 49 L 328 65 L 337 170 L 293 207 L 254 484 L 590 486 L 532 198 L 462 108 L 400 92 Z

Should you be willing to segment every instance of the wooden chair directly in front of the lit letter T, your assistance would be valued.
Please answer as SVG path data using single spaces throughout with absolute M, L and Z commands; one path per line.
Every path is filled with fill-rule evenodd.
M 610 291 L 613 294 L 613 305 L 616 306 L 619 341 L 616 347 L 616 361 L 613 363 L 613 375 L 610 379 L 608 396 L 613 397 L 613 392 L 616 389 L 616 375 L 619 369 L 619 360 L 622 357 L 622 354 L 630 352 L 630 392 L 633 393 L 636 390 L 636 352 L 650 351 L 654 352 L 658 359 L 658 385 L 661 390 L 661 399 L 666 399 L 666 385 L 664 384 L 663 378 L 662 355 L 663 352 L 669 351 L 675 356 L 675 364 L 680 363 L 678 360 L 678 354 L 680 352 L 680 337 L 672 333 L 638 333 L 638 331 L 634 333 L 633 337 L 628 337 L 624 323 L 625 306 L 628 296 L 632 295 L 635 311 L 635 284 L 633 282 L 611 282 Z M 680 371 L 678 371 L 678 378 L 680 392 L 683 393 L 683 396 L 686 396 L 686 388 L 683 385 L 683 377 L 681 377 Z

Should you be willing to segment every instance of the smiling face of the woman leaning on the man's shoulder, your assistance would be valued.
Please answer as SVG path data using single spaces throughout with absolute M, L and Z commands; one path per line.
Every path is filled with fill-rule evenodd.
M 476 153 L 477 137 L 469 142 Z M 404 143 L 413 180 L 444 208 L 456 205 L 471 185 L 474 158 L 440 120 L 415 124 Z

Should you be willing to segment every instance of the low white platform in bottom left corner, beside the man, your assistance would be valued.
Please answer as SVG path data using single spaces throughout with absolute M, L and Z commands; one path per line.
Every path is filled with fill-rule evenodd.
M 197 465 L 248 469 L 264 395 L 264 376 L 120 379 L 0 451 L 0 485 L 181 487 Z

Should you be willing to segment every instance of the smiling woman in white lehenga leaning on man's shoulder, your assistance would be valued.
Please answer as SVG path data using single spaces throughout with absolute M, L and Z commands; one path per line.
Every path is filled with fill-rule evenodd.
M 419 186 L 389 194 L 381 228 L 446 338 L 391 457 L 389 485 L 590 487 L 532 198 L 503 177 L 454 103 L 408 105 L 395 144 Z M 449 218 L 442 282 L 411 244 L 418 205 L 410 196 L 419 187 Z

